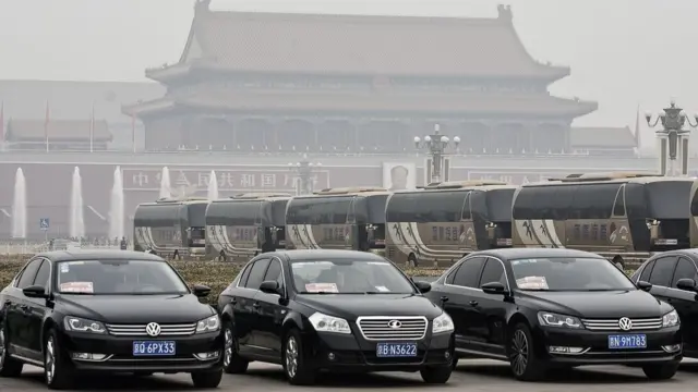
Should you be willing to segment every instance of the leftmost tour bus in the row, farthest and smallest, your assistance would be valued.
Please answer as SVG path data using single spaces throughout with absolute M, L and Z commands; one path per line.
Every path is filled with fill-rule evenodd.
M 206 250 L 205 198 L 159 199 L 136 207 L 134 249 L 161 257 L 203 256 Z

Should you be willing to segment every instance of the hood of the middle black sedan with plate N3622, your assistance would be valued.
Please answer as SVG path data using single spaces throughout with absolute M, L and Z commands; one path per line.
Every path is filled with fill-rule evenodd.
M 299 294 L 296 302 L 347 320 L 360 316 L 425 316 L 431 320 L 443 311 L 426 297 L 414 294 Z

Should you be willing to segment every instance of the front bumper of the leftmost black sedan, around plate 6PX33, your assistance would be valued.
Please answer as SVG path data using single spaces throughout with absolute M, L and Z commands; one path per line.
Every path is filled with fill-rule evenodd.
M 133 356 L 133 342 L 145 340 L 174 341 L 176 354 L 171 356 Z M 75 369 L 80 371 L 176 373 L 219 369 L 222 366 L 224 340 L 220 332 L 161 339 L 63 333 L 61 347 Z M 209 354 L 202 356 L 203 353 Z M 86 356 L 84 354 L 93 355 Z

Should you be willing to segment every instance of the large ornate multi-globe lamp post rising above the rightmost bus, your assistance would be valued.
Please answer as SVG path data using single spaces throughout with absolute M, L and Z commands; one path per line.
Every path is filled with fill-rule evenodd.
M 698 114 L 694 115 L 696 124 L 691 123 L 690 118 L 686 115 L 683 109 L 676 107 L 674 100 L 671 101 L 669 108 L 664 108 L 654 121 L 652 113 L 645 114 L 645 120 L 650 128 L 657 126 L 660 122 L 662 128 L 657 131 L 659 139 L 659 168 L 661 175 L 676 175 L 675 163 L 681 161 L 681 174 L 688 175 L 688 138 L 690 130 L 684 130 L 684 125 L 688 123 L 690 126 L 698 125 Z

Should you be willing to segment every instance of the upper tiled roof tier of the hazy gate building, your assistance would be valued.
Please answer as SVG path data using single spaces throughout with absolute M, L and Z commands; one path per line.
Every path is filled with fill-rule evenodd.
M 198 7 L 180 64 L 231 71 L 393 76 L 531 76 L 569 69 L 533 60 L 512 23 L 496 19 L 277 14 Z M 151 70 L 165 75 L 167 69 Z

